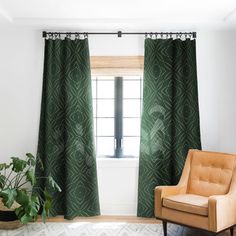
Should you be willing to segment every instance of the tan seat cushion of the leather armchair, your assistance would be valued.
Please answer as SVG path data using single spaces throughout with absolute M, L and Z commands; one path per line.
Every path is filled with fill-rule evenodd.
M 174 210 L 208 216 L 208 197 L 195 194 L 172 195 L 164 197 L 162 204 Z

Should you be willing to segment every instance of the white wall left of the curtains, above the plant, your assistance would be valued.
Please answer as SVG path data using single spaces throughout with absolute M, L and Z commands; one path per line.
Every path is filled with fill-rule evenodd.
M 41 103 L 43 41 L 27 30 L 0 37 L 0 160 L 35 153 Z

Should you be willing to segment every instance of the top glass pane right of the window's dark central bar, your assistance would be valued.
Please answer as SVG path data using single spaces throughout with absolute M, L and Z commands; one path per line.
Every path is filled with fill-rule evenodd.
M 140 98 L 140 81 L 123 81 L 124 98 Z

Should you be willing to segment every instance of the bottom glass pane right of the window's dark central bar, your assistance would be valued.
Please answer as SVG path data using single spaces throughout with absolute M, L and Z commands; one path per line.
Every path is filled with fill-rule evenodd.
M 139 156 L 139 137 L 124 137 L 123 153 L 124 156 Z

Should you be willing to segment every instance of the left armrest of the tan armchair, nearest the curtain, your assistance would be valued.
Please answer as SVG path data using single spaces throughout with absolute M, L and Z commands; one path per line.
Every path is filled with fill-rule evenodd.
M 171 195 L 186 193 L 186 186 L 157 186 L 155 188 L 155 216 L 161 217 L 162 199 Z

